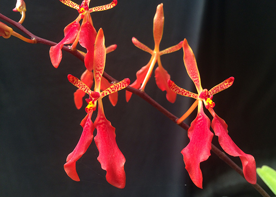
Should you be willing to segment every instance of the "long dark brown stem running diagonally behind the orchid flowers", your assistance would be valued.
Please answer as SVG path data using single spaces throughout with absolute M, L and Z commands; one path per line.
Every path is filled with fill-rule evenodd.
M 45 44 L 45 45 L 49 45 L 49 46 L 54 46 L 57 43 L 40 38 L 36 35 L 34 35 L 33 33 L 29 32 L 26 28 L 24 28 L 20 23 L 13 21 L 11 19 L 9 19 L 8 17 L 2 15 L 0 13 L 0 19 L 6 21 L 7 23 L 9 23 L 10 25 L 18 28 L 20 31 L 22 31 L 23 33 L 25 33 L 26 35 L 28 35 L 31 39 L 35 39 L 37 41 L 37 43 L 41 43 L 41 44 Z M 84 56 L 81 55 L 77 50 L 71 50 L 70 47 L 64 46 L 63 50 L 71 53 L 72 55 L 74 55 L 76 58 L 78 58 L 79 60 L 81 60 L 82 62 L 84 62 Z M 109 82 L 119 82 L 118 80 L 114 79 L 113 77 L 111 77 L 110 75 L 108 75 L 106 72 L 104 72 L 103 74 L 104 78 L 106 78 Z M 154 99 L 152 99 L 151 97 L 149 97 L 144 91 L 132 88 L 130 86 L 128 86 L 126 88 L 127 91 L 132 92 L 133 94 L 137 95 L 138 97 L 140 97 L 141 99 L 144 99 L 145 101 L 147 101 L 149 104 L 151 104 L 153 107 L 155 107 L 158 111 L 160 111 L 161 113 L 163 113 L 165 116 L 167 116 L 170 120 L 172 120 L 175 124 L 176 121 L 178 120 L 178 118 L 176 116 L 174 116 L 171 112 L 169 112 L 167 109 L 165 109 L 163 106 L 161 106 L 158 102 L 156 102 Z M 178 124 L 181 128 L 183 128 L 184 130 L 188 131 L 189 126 L 187 124 L 185 124 L 184 122 L 181 122 L 180 124 Z M 211 149 L 221 160 L 223 160 L 226 164 L 228 164 L 230 167 L 232 167 L 235 171 L 237 171 L 243 178 L 243 172 L 242 172 L 242 168 L 239 167 L 236 163 L 234 163 L 224 152 L 220 151 L 215 145 L 212 144 L 212 149 Z M 264 189 L 259 186 L 258 184 L 252 185 L 263 197 L 270 197 L 265 191 Z

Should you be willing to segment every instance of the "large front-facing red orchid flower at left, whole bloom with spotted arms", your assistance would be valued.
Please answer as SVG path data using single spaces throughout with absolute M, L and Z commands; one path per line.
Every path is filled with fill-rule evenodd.
M 90 88 L 78 78 L 70 74 L 68 75 L 69 82 L 88 94 L 89 99 L 86 99 L 88 103 L 85 108 L 87 115 L 80 124 L 83 127 L 83 132 L 75 149 L 68 155 L 66 160 L 67 163 L 64 164 L 64 169 L 71 179 L 75 181 L 80 180 L 76 172 L 76 161 L 86 152 L 91 144 L 93 131 L 96 128 L 97 135 L 95 136 L 95 143 L 99 150 L 98 161 L 101 163 L 102 168 L 106 170 L 106 180 L 117 188 L 124 188 L 126 184 L 126 175 L 124 171 L 126 160 L 117 146 L 115 140 L 115 128 L 112 127 L 110 122 L 106 120 L 104 116 L 102 99 L 109 94 L 126 88 L 130 84 L 130 80 L 126 78 L 101 92 L 101 80 L 103 79 L 102 75 L 105 66 L 105 53 L 104 33 L 103 30 L 100 29 L 96 37 L 94 51 L 94 55 L 97 57 L 94 59 L 94 91 L 91 91 Z M 93 124 L 91 116 L 93 111 L 96 110 L 97 102 L 99 103 L 98 116 Z

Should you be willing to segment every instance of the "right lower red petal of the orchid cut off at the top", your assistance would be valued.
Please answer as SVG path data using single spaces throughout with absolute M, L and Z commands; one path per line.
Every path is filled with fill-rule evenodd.
M 93 70 L 94 44 L 96 36 L 97 32 L 90 23 L 90 20 L 87 20 L 84 24 L 81 25 L 79 33 L 79 44 L 87 50 L 87 53 L 84 57 L 84 65 L 89 71 Z

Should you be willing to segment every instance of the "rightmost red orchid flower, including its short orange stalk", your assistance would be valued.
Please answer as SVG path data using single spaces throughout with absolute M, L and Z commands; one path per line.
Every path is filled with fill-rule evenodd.
M 183 41 L 183 52 L 183 60 L 186 70 L 190 78 L 193 80 L 198 94 L 191 93 L 176 86 L 171 80 L 168 80 L 168 84 L 172 91 L 176 94 L 196 99 L 190 109 L 177 120 L 177 124 L 181 123 L 191 114 L 196 106 L 198 106 L 198 115 L 191 123 L 191 127 L 188 130 L 190 142 L 181 151 L 186 165 L 185 168 L 187 169 L 192 181 L 197 187 L 202 188 L 203 177 L 200 169 L 200 163 L 206 161 L 210 156 L 211 140 L 213 137 L 213 133 L 209 129 L 211 125 L 215 135 L 218 136 L 218 142 L 222 149 L 231 156 L 240 157 L 245 179 L 251 184 L 256 184 L 256 164 L 254 157 L 242 152 L 242 150 L 233 142 L 231 137 L 228 135 L 227 124 L 213 110 L 213 107 L 215 106 L 215 103 L 212 101 L 213 95 L 229 88 L 234 82 L 234 77 L 226 79 L 222 83 L 207 91 L 207 89 L 203 89 L 201 86 L 196 59 L 186 39 Z M 203 103 L 213 116 L 211 124 L 207 115 L 204 113 Z

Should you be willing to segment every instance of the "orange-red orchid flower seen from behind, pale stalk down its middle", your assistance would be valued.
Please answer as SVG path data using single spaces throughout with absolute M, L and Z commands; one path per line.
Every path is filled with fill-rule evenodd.
M 153 67 L 157 62 L 158 67 L 155 70 L 156 84 L 158 88 L 161 89 L 162 91 L 166 90 L 167 92 L 166 98 L 173 103 L 176 99 L 176 94 L 173 93 L 171 89 L 168 87 L 167 81 L 168 79 L 171 78 L 171 76 L 168 74 L 167 70 L 165 70 L 164 67 L 162 66 L 160 56 L 179 50 L 182 46 L 182 41 L 179 42 L 177 45 L 174 45 L 163 51 L 159 51 L 159 45 L 162 39 L 163 29 L 164 29 L 164 11 L 163 11 L 163 3 L 161 3 L 157 6 L 156 13 L 153 19 L 153 38 L 155 43 L 154 50 L 151 50 L 146 45 L 139 42 L 135 37 L 132 38 L 132 42 L 134 43 L 135 46 L 151 54 L 151 59 L 146 66 L 143 66 L 136 73 L 137 80 L 130 86 L 143 91 L 145 89 L 146 83 L 148 82 L 151 76 Z M 127 102 L 129 101 L 131 96 L 132 96 L 132 93 L 129 91 L 126 91 Z

